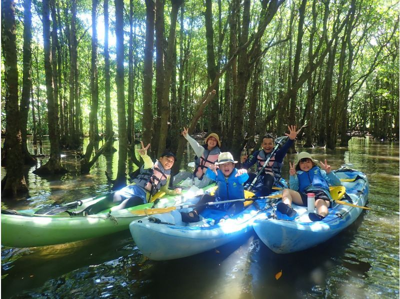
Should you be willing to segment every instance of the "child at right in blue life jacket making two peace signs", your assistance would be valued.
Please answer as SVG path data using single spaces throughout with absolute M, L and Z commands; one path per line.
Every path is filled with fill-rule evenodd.
M 290 189 L 283 189 L 282 202 L 276 205 L 276 209 L 283 214 L 292 217 L 296 211 L 291 207 L 291 202 L 297 205 L 307 206 L 307 193 L 315 194 L 316 213 L 308 213 L 311 221 L 320 221 L 328 214 L 330 200 L 329 185 L 341 185 L 340 179 L 331 171 L 330 165 L 320 162 L 311 157 L 308 152 L 302 151 L 297 154 L 297 161 L 290 164 Z

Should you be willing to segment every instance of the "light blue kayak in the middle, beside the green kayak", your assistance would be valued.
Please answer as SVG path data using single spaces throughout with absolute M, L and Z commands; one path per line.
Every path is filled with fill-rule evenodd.
M 258 201 L 263 208 L 265 200 Z M 206 207 L 199 222 L 182 222 L 180 211 L 190 210 L 172 210 L 132 221 L 129 229 L 133 241 L 145 256 L 153 260 L 185 257 L 221 246 L 251 231 L 252 223 L 260 212 L 254 204 L 250 204 L 235 216 L 214 224 L 215 219 L 225 212 Z

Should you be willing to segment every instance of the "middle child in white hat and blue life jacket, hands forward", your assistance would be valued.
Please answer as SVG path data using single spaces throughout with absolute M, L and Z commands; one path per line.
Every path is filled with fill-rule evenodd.
M 197 203 L 205 203 L 210 201 L 223 201 L 231 199 L 244 198 L 243 183 L 248 179 L 247 170 L 236 169 L 230 152 L 221 152 L 218 156 L 218 162 L 209 165 L 205 171 L 205 175 L 211 180 L 216 181 L 217 189 L 215 196 L 204 194 Z M 205 206 L 195 207 L 192 211 L 180 212 L 183 222 L 199 221 L 199 214 Z M 214 205 L 214 208 L 227 211 L 228 215 L 233 215 L 243 210 L 243 202 L 229 202 Z M 226 215 L 225 218 L 228 216 Z

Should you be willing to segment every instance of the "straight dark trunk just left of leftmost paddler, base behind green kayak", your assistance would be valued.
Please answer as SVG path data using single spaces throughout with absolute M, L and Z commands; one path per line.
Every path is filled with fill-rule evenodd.
M 123 0 L 115 0 L 115 36 L 116 36 L 116 98 L 118 111 L 118 172 L 115 183 L 112 186 L 114 190 L 120 189 L 126 185 L 126 116 L 125 116 L 125 82 L 123 77 Z

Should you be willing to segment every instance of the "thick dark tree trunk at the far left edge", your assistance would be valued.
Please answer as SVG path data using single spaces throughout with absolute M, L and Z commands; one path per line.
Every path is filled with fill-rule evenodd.
M 18 111 L 18 68 L 16 57 L 15 9 L 11 0 L 1 0 L 1 51 L 4 56 L 6 176 L 1 181 L 1 196 L 27 193 L 22 172 L 22 140 Z

